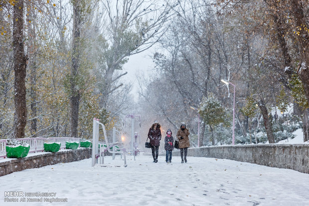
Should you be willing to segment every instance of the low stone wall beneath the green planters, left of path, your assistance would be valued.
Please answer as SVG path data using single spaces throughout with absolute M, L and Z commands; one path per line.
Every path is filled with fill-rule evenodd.
M 79 148 L 77 150 L 65 150 L 56 153 L 37 153 L 37 155 L 28 156 L 10 161 L 0 162 L 0 176 L 10 174 L 30 168 L 39 168 L 46 165 L 54 165 L 61 162 L 74 162 L 90 158 L 92 148 Z

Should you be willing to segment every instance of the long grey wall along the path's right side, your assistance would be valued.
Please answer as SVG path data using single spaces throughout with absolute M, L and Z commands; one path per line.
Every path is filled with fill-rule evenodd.
M 173 151 L 180 156 L 180 151 Z M 309 173 L 309 144 L 229 145 L 189 148 L 187 156 L 250 162 Z

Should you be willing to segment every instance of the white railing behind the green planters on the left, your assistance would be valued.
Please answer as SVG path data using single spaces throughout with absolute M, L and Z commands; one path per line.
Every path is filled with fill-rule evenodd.
M 60 142 L 61 147 L 65 148 L 65 142 L 67 141 L 80 141 L 80 138 L 75 137 L 32 137 L 32 138 L 20 138 L 18 141 L 27 143 L 30 145 L 30 152 L 41 152 L 44 151 L 44 142 Z M 0 158 L 6 157 L 6 141 L 7 139 L 0 139 Z

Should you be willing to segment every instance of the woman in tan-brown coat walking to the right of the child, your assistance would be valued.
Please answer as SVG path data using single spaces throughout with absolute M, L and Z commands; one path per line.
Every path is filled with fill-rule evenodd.
M 190 147 L 189 134 L 189 130 L 186 128 L 185 123 L 181 123 L 180 129 L 177 131 L 176 134 L 180 149 L 181 163 L 183 163 L 183 156 L 184 162 L 187 162 L 187 152 L 188 147 Z

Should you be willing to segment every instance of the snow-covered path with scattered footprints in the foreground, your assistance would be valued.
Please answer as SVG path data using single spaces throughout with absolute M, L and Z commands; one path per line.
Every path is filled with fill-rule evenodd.
M 119 157 L 117 157 L 119 158 Z M 111 163 L 111 157 L 106 157 Z M 0 206 L 308 206 L 309 174 L 232 160 L 128 156 L 128 167 L 91 167 L 91 159 L 0 177 Z M 116 163 L 123 163 L 114 160 Z M 114 163 L 113 162 L 113 163 Z M 4 202 L 4 192 L 56 193 L 67 203 Z M 25 197 L 37 198 L 41 197 Z M 20 199 L 20 197 L 18 198 Z M 44 201 L 44 197 L 43 197 Z

